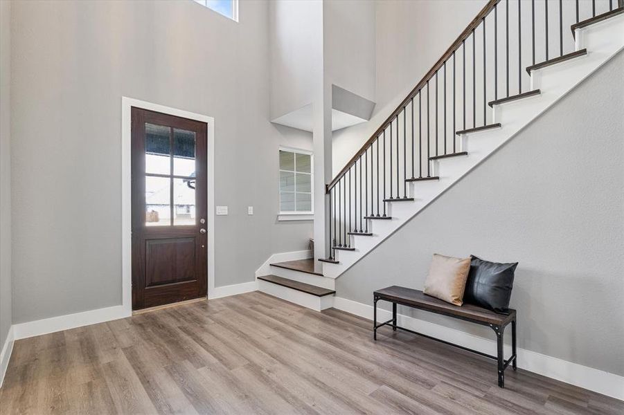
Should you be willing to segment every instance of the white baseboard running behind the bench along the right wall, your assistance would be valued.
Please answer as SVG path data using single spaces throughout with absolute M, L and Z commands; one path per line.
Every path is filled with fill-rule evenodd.
M 373 306 L 368 304 L 362 304 L 342 297 L 334 297 L 334 308 L 373 320 Z M 383 322 L 391 318 L 392 313 L 390 311 L 377 308 L 377 322 Z M 494 340 L 449 329 L 448 327 L 440 326 L 440 324 L 426 322 L 407 315 L 398 315 L 397 320 L 398 324 L 406 329 L 418 331 L 419 333 L 459 344 L 463 347 L 469 347 L 483 353 L 496 353 L 496 342 Z M 535 351 L 517 349 L 517 353 L 518 367 L 521 369 L 589 389 L 590 391 L 598 392 L 598 394 L 624 400 L 623 376 L 578 365 L 567 360 L 553 358 Z M 510 356 L 510 354 L 511 347 L 506 345 L 505 356 Z

